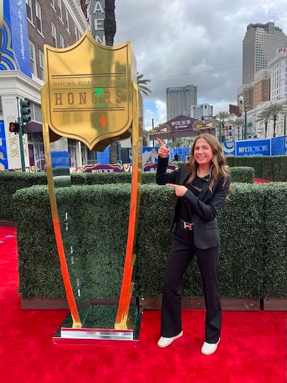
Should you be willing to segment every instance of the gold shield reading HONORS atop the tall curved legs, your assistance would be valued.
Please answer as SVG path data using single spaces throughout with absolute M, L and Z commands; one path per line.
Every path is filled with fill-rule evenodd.
M 45 45 L 44 52 L 47 123 L 54 133 L 90 150 L 130 136 L 136 81 L 130 42 L 108 47 L 86 32 L 69 48 Z

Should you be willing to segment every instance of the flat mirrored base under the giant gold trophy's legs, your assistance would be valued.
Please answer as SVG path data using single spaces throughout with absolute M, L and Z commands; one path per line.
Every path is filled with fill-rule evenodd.
M 142 313 L 137 306 L 130 307 L 130 329 L 115 329 L 118 306 L 91 305 L 79 311 L 81 328 L 73 328 L 69 313 L 52 337 L 54 344 L 114 344 L 138 345 Z

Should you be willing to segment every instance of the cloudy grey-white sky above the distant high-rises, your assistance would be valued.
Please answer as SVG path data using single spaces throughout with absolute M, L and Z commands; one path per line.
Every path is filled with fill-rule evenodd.
M 137 72 L 150 79 L 145 128 L 167 121 L 167 87 L 198 87 L 213 113 L 236 104 L 242 40 L 249 23 L 273 21 L 287 34 L 287 0 L 116 0 L 114 45 L 130 40 Z

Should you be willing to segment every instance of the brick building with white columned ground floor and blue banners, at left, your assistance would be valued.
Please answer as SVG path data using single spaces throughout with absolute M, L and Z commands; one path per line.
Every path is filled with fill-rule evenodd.
M 43 45 L 65 48 L 89 30 L 83 0 L 5 0 L 0 62 L 0 170 L 21 169 L 20 137 L 9 131 L 19 117 L 18 101 L 30 101 L 31 122 L 23 135 L 25 167 L 35 172 L 45 165 L 40 89 L 45 82 Z M 85 10 L 85 9 L 84 9 Z M 2 9 L 0 8 L 0 13 Z M 1 37 L 2 37 L 1 36 Z M 70 165 L 86 161 L 84 144 L 68 140 Z

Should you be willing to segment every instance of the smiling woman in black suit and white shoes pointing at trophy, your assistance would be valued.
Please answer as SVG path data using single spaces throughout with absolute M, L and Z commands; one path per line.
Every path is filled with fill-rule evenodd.
M 221 301 L 218 285 L 220 236 L 217 213 L 230 191 L 231 177 L 223 150 L 210 134 L 196 137 L 191 158 L 178 170 L 167 173 L 169 149 L 159 140 L 157 184 L 174 189 L 171 225 L 176 231 L 164 275 L 161 338 L 167 347 L 183 335 L 181 328 L 181 281 L 196 254 L 206 304 L 206 334 L 201 353 L 218 348 L 221 330 Z

